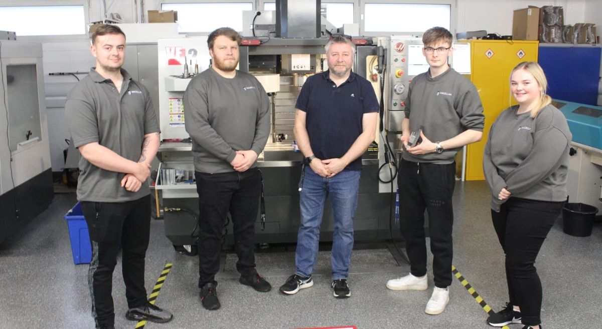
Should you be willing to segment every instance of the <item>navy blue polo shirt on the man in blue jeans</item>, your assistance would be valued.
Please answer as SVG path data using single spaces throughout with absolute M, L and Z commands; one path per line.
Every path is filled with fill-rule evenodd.
M 306 113 L 305 127 L 314 155 L 325 160 L 345 155 L 362 133 L 364 113 L 378 112 L 374 88 L 368 80 L 351 73 L 337 87 L 329 71 L 309 77 L 297 98 L 295 107 Z M 346 170 L 360 170 L 362 158 Z

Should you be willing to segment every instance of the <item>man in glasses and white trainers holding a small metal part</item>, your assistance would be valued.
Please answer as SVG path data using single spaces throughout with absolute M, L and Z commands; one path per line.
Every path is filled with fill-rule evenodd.
M 445 310 L 447 287 L 452 284 L 454 157 L 462 146 L 481 139 L 485 117 L 473 83 L 447 64 L 453 51 L 452 34 L 444 28 L 431 28 L 424 32 L 423 43 L 429 70 L 409 85 L 401 137 L 405 152 L 397 178 L 400 229 L 411 267 L 407 276 L 389 280 L 386 287 L 427 289 L 426 209 L 435 288 L 424 312 L 436 315 Z M 421 142 L 408 146 L 410 134 L 420 129 Z

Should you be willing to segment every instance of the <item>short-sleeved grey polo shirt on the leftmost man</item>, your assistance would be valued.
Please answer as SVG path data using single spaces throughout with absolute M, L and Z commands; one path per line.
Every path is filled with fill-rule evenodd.
M 75 147 L 98 142 L 124 158 L 138 161 L 144 134 L 159 130 L 151 95 L 125 70 L 121 92 L 94 68 L 67 95 L 65 116 Z M 149 195 L 147 182 L 138 192 L 121 186 L 125 174 L 79 159 L 79 201 L 126 202 Z

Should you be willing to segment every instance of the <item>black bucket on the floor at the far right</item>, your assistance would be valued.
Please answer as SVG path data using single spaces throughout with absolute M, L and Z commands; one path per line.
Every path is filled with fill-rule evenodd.
M 562 208 L 562 231 L 573 237 L 589 237 L 592 234 L 596 213 L 598 208 L 591 205 L 565 204 Z

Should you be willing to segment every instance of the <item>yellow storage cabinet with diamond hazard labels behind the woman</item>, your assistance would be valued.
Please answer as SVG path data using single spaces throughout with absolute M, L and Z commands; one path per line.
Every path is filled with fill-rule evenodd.
M 483 151 L 489 136 L 489 128 L 495 118 L 512 104 L 510 72 L 518 63 L 536 62 L 539 41 L 517 40 L 470 40 L 470 80 L 479 91 L 485 113 L 483 139 L 468 145 L 466 152 L 465 180 L 485 180 L 483 175 Z

